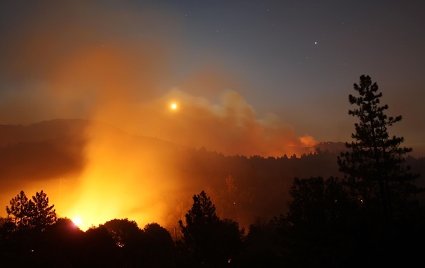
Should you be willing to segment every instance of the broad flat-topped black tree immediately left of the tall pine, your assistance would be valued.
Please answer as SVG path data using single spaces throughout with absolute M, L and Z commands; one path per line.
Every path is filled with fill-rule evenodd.
M 275 218 L 275 243 L 291 267 L 341 267 L 358 251 L 357 205 L 338 178 L 294 178 L 289 212 Z M 360 258 L 357 255 L 350 255 Z

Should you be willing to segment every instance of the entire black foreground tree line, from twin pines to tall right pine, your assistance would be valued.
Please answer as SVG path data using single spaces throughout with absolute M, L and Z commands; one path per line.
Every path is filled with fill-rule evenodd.
M 295 177 L 287 210 L 258 218 L 248 230 L 221 218 L 206 191 L 193 196 L 178 230 L 157 223 L 139 228 L 129 219 L 112 219 L 86 232 L 70 219 L 57 218 L 40 191 L 31 199 L 21 191 L 0 222 L 0 256 L 33 267 L 392 267 L 420 263 L 425 210 L 401 147 L 403 137 L 387 127 L 382 93 L 369 76 L 354 84 L 359 118 L 353 142 L 337 157 L 341 178 Z M 319 152 L 323 154 L 323 152 Z M 304 156 L 305 157 L 308 156 Z M 295 160 L 295 159 L 294 159 Z M 285 160 L 286 161 L 286 160 Z M 305 163 L 305 162 L 304 162 Z M 304 166 L 309 168 L 309 166 Z M 226 179 L 236 198 L 234 178 Z M 285 194 L 285 193 L 282 193 Z M 265 198 L 265 196 L 263 196 Z M 177 232 L 179 235 L 177 235 Z

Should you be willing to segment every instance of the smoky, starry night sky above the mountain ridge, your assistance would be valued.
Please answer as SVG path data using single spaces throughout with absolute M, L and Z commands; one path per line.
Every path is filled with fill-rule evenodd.
M 279 155 L 350 141 L 348 95 L 368 74 L 403 116 L 389 134 L 425 152 L 424 1 L 1 1 L 0 13 L 1 124 L 93 118 Z

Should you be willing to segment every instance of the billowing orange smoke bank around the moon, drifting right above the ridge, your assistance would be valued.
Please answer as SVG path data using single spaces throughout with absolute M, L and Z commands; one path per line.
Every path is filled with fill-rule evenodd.
M 169 103 L 178 100 L 179 109 L 169 111 Z M 204 97 L 170 90 L 155 102 L 139 108 L 139 129 L 145 134 L 176 143 L 206 147 L 225 155 L 261 155 L 279 157 L 293 146 L 314 145 L 308 136 L 295 136 L 291 126 L 276 116 L 257 118 L 254 109 L 239 93 L 222 93 L 218 103 Z

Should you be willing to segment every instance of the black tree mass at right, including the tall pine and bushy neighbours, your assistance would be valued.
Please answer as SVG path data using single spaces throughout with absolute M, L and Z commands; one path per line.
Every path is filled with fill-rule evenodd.
M 397 267 L 422 262 L 425 210 L 422 187 L 415 183 L 403 155 L 402 137 L 387 127 L 401 116 L 387 117 L 378 86 L 362 75 L 349 96 L 357 108 L 354 141 L 337 157 L 343 178 L 295 178 L 288 213 L 250 226 L 247 244 L 265 239 L 261 252 L 268 267 Z M 266 237 L 266 238 L 264 238 Z M 249 240 L 252 240 L 251 242 Z M 261 248 L 260 248 L 261 249 Z M 247 255 L 256 256 L 255 253 Z M 248 258 L 245 258 L 249 263 Z M 258 262 L 256 258 L 254 261 Z M 258 262 L 260 263 L 260 262 Z

